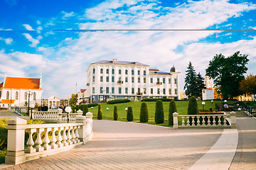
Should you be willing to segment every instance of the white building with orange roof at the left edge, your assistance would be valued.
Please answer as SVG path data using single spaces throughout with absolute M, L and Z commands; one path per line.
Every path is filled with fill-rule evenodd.
M 40 104 L 43 92 L 41 84 L 42 78 L 5 77 L 4 82 L 0 84 L 0 106 L 24 106 L 28 98 L 30 104 Z M 32 92 L 31 95 L 28 95 L 29 90 Z

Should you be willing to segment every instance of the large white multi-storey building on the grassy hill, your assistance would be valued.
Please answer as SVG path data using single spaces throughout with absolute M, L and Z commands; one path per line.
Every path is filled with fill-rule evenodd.
M 107 98 L 176 98 L 179 74 L 174 67 L 162 72 L 139 62 L 102 60 L 87 69 L 87 96 L 90 103 Z

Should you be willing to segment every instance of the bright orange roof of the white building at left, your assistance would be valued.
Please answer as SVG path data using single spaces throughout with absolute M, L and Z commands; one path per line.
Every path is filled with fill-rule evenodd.
M 1 85 L 0 85 L 1 86 Z M 40 79 L 6 77 L 4 88 L 12 89 L 39 89 Z

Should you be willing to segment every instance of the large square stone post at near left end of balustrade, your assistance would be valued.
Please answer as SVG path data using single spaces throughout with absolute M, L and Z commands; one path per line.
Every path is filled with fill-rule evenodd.
M 26 161 L 24 152 L 26 120 L 12 118 L 6 120 L 8 130 L 6 164 L 21 164 Z

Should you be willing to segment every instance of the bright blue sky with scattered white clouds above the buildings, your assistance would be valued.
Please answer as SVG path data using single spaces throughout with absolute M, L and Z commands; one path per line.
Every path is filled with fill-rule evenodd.
M 43 98 L 86 89 L 90 64 L 113 58 L 164 72 L 174 65 L 181 91 L 188 63 L 205 76 L 216 54 L 240 51 L 247 74 L 256 72 L 255 1 L 1 0 L 0 16 L 0 81 L 42 74 Z

